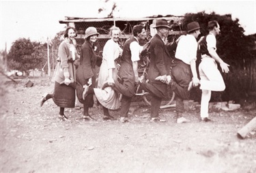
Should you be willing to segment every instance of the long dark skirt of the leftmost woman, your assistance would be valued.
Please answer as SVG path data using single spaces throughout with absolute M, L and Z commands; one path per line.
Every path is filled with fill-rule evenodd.
M 57 106 L 61 108 L 74 108 L 75 99 L 75 89 L 66 84 L 55 82 L 53 101 Z

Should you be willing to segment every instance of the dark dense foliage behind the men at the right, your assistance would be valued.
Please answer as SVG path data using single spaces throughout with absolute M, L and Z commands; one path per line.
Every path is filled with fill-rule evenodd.
M 207 25 L 210 20 L 218 21 L 221 27 L 221 35 L 216 37 L 217 39 L 217 53 L 230 65 L 230 72 L 223 74 L 225 80 L 226 89 L 223 92 L 213 92 L 211 101 L 238 101 L 242 97 L 245 97 L 248 91 L 255 89 L 252 85 L 250 76 L 253 75 L 251 69 L 253 62 L 256 61 L 253 48 L 255 47 L 255 36 L 244 35 L 244 29 L 239 24 L 238 18 L 232 20 L 231 14 L 218 15 L 212 12 L 211 14 L 205 14 L 205 12 L 199 12 L 197 14 L 186 14 L 184 16 L 183 25 L 186 26 L 189 22 L 197 21 L 201 27 L 201 36 L 208 34 Z M 199 39 L 198 38 L 198 39 Z M 197 59 L 197 67 L 201 59 Z M 255 66 L 254 66 L 255 68 Z M 221 69 L 220 69 L 221 72 Z M 201 91 L 195 89 L 192 94 L 194 100 L 199 101 L 201 98 Z

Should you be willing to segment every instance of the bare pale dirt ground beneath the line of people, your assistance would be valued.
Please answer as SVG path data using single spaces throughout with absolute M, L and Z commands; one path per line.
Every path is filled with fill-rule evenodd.
M 27 79 L 1 84 L 0 172 L 256 172 L 256 134 L 244 140 L 237 131 L 256 110 L 210 111 L 212 123 L 175 123 L 173 109 L 160 110 L 166 123 L 149 121 L 150 107 L 132 108 L 129 123 L 102 121 L 102 109 L 91 108 L 96 120 L 83 121 L 83 109 L 67 109 L 70 121 L 59 121 L 59 108 L 44 93 L 53 82 Z M 111 111 L 118 118 L 118 111 Z

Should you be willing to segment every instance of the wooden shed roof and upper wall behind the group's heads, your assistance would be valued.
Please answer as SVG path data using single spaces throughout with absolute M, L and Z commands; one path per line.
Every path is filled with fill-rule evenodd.
M 65 17 L 64 20 L 59 20 L 60 24 L 66 24 L 66 26 L 75 27 L 78 31 L 76 41 L 81 46 L 85 39 L 85 30 L 87 27 L 96 27 L 98 33 L 98 43 L 102 49 L 107 40 L 109 40 L 109 29 L 115 25 L 119 27 L 122 31 L 120 36 L 120 41 L 124 42 L 132 35 L 132 27 L 134 25 L 143 24 L 145 25 L 145 30 L 149 35 L 155 33 L 154 22 L 158 18 L 165 18 L 168 20 L 171 30 L 169 31 L 169 39 L 172 37 L 177 37 L 184 33 L 185 28 L 182 24 L 183 16 L 150 16 L 144 18 L 80 18 L 80 17 Z

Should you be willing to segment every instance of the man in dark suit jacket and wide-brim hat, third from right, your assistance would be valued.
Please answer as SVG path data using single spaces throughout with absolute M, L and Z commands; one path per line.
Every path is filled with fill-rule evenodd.
M 170 54 L 165 47 L 163 41 L 169 33 L 169 24 L 165 19 L 157 19 L 157 33 L 152 37 L 150 44 L 150 68 L 147 73 L 149 82 L 142 84 L 143 88 L 152 95 L 151 99 L 151 121 L 163 122 L 165 120 L 159 118 L 158 110 L 162 102 L 162 98 L 167 93 L 167 84 L 163 83 L 170 75 Z M 156 77 L 162 76 L 161 80 L 155 80 Z

